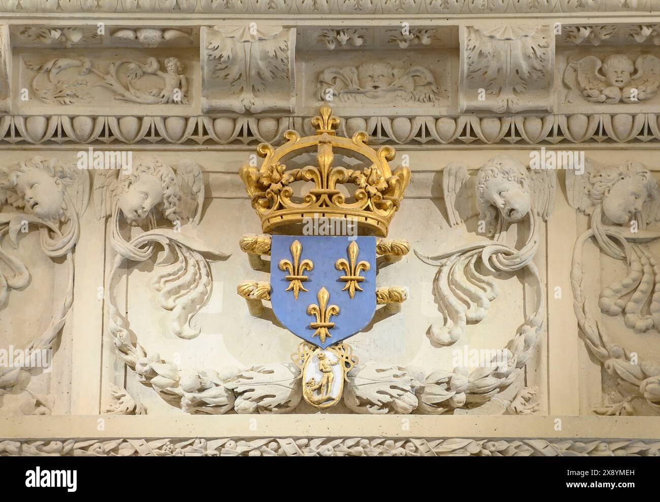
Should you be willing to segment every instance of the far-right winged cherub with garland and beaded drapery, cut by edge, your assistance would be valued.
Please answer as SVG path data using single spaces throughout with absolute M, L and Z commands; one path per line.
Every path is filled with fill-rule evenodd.
M 583 246 L 593 237 L 603 253 L 627 265 L 624 278 L 601 290 L 601 312 L 622 315 L 626 327 L 636 333 L 660 329 L 660 266 L 647 245 L 660 238 L 658 230 L 649 228 L 660 220 L 657 181 L 639 162 L 606 165 L 587 159 L 583 175 L 567 172 L 566 191 L 570 204 L 589 215 L 590 228 L 576 241 L 571 270 L 574 306 L 585 343 L 605 369 L 618 377 L 624 394 L 643 397 L 660 412 L 660 362 L 630 362 L 630 354 L 612 342 L 591 312 L 581 286 Z

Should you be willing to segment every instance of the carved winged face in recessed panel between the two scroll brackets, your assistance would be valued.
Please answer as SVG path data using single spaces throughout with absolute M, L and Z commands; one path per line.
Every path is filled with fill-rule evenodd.
M 440 98 L 440 88 L 428 68 L 415 66 L 403 70 L 385 61 L 323 70 L 317 84 L 319 100 L 326 100 L 329 92 L 342 102 L 358 103 L 382 100 L 434 103 Z

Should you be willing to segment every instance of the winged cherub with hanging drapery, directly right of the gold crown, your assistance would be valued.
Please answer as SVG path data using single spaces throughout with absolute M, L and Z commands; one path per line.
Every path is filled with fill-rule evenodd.
M 527 268 L 538 293 L 535 313 L 527 317 L 512 344 L 516 365 L 521 367 L 531 354 L 545 315 L 543 284 L 532 260 L 539 247 L 539 217 L 545 220 L 554 207 L 555 173 L 528 170 L 519 160 L 503 155 L 484 163 L 476 177 L 462 162 L 453 162 L 444 169 L 442 183 L 449 225 L 457 226 L 479 214 L 491 238 L 432 258 L 415 252 L 424 263 L 440 267 L 434 289 L 443 318 L 432 325 L 430 336 L 442 345 L 456 342 L 467 323 L 482 321 L 490 302 L 497 298 L 498 285 L 490 274 Z M 512 224 L 527 227 L 527 241 L 520 249 L 506 243 Z

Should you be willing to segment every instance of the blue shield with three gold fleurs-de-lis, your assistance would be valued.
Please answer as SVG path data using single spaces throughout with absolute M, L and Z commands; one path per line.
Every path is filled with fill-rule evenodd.
M 273 235 L 271 303 L 293 334 L 326 348 L 376 311 L 376 237 Z

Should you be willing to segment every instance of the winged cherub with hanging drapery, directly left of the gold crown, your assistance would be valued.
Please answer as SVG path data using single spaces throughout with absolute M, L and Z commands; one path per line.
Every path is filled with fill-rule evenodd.
M 200 253 L 224 256 L 181 230 L 186 225 L 190 230 L 197 226 L 203 200 L 201 169 L 191 161 L 169 166 L 158 158 L 145 156 L 133 162 L 131 170 L 98 172 L 94 179 L 97 214 L 99 218 L 110 216 L 112 246 L 118 253 L 108 288 L 125 261 L 150 259 L 158 245 L 162 246 L 165 256 L 156 263 L 162 271 L 154 274 L 152 287 L 160 307 L 170 312 L 171 332 L 185 339 L 199 334 L 199 327 L 191 321 L 211 296 L 211 270 Z M 159 220 L 174 228 L 159 228 Z M 133 229 L 131 234 L 138 235 L 125 239 L 123 222 Z M 112 294 L 110 298 L 110 324 L 117 347 L 132 354 L 136 349 L 127 338 L 125 320 L 114 307 Z

